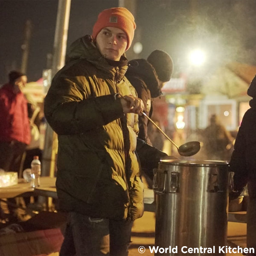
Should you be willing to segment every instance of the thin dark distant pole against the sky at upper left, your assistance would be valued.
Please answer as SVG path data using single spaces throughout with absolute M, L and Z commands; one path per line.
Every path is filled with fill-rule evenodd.
M 24 30 L 24 42 L 21 46 L 23 54 L 22 54 L 20 71 L 24 74 L 26 74 L 26 70 L 28 66 L 31 31 L 32 31 L 32 22 L 31 20 L 27 20 L 25 24 L 25 30 Z

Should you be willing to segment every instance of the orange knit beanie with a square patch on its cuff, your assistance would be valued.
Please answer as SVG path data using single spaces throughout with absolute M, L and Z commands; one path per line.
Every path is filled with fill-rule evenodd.
M 116 7 L 105 9 L 99 13 L 98 20 L 93 26 L 93 41 L 96 41 L 99 32 L 108 26 L 122 29 L 125 32 L 127 35 L 127 47 L 125 50 L 128 50 L 134 38 L 134 30 L 136 29 L 134 16 L 131 12 L 124 7 Z

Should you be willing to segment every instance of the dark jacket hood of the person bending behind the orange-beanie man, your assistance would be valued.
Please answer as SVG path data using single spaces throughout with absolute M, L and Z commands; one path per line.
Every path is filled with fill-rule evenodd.
M 156 98 L 161 95 L 161 90 L 157 80 L 157 73 L 154 70 L 154 67 L 145 59 L 134 59 L 129 61 L 129 67 L 125 76 L 128 79 L 129 76 L 135 76 L 143 79 L 148 90 L 150 90 L 152 98 Z

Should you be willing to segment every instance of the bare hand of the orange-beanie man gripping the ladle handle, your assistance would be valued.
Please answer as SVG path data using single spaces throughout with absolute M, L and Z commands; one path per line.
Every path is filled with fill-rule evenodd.
M 135 113 L 140 114 L 144 109 L 143 101 L 132 95 L 125 95 L 121 97 L 121 104 L 124 113 Z

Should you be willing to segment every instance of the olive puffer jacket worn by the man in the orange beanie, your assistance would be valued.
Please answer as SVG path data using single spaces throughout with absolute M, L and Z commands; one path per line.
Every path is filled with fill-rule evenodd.
M 114 99 L 115 93 L 136 95 L 124 76 L 125 60 L 121 68 L 111 66 L 85 36 L 71 45 L 67 64 L 52 80 L 44 112 L 58 134 L 61 210 L 113 219 L 143 215 L 138 116 L 124 115 Z

